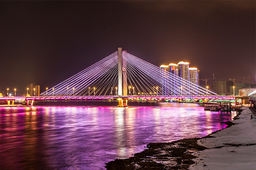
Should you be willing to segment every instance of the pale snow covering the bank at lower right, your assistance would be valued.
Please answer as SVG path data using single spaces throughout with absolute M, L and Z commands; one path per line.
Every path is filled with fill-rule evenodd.
M 256 119 L 251 119 L 252 112 L 248 107 L 241 109 L 243 111 L 239 115 L 239 119 L 231 121 L 237 124 L 211 134 L 215 138 L 205 138 L 197 141 L 199 145 L 207 147 L 208 150 L 193 153 L 192 155 L 198 158 L 193 159 L 196 163 L 190 165 L 189 169 L 256 169 L 256 145 L 252 145 L 256 143 Z M 251 146 L 237 147 L 225 144 L 251 144 Z

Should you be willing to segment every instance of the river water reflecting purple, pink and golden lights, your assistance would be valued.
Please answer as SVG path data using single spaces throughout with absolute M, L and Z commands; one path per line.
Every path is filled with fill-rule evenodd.
M 0 169 L 105 169 L 150 142 L 203 137 L 235 112 L 186 103 L 0 107 Z

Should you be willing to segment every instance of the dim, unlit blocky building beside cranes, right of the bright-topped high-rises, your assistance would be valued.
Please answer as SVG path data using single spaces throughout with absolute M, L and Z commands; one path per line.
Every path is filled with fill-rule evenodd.
M 215 81 L 213 86 L 214 92 L 219 95 L 231 95 L 233 93 L 233 82 L 231 81 Z M 232 87 L 231 92 L 230 86 Z

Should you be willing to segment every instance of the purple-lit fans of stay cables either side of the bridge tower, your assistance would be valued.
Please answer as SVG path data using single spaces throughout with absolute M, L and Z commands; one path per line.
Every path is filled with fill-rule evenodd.
M 184 96 L 217 95 L 196 84 L 166 72 L 126 51 L 122 52 L 127 76 L 127 95 Z M 125 80 L 124 80 L 125 81 Z M 41 96 L 117 96 L 117 51 L 52 87 Z

